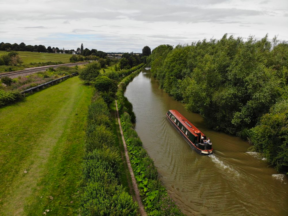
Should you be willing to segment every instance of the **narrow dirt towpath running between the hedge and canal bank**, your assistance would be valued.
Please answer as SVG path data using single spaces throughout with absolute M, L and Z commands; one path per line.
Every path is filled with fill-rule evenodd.
M 135 195 L 136 195 L 136 200 L 137 200 L 138 205 L 139 205 L 140 214 L 142 216 L 147 216 L 147 213 L 146 213 L 146 211 L 144 209 L 144 206 L 142 204 L 142 200 L 141 200 L 141 197 L 140 197 L 139 189 L 138 189 L 138 186 L 137 186 L 137 183 L 136 183 L 136 179 L 134 177 L 134 173 L 133 173 L 133 170 L 132 170 L 132 167 L 131 167 L 130 158 L 128 156 L 127 145 L 126 145 L 126 142 L 125 142 L 125 139 L 124 139 L 124 136 L 123 136 L 123 130 L 122 130 L 122 127 L 121 127 L 119 111 L 118 111 L 118 106 L 117 106 L 117 101 L 116 100 L 115 100 L 115 104 L 116 104 L 116 112 L 117 112 L 118 124 L 119 124 L 120 133 L 121 133 L 121 137 L 122 137 L 122 141 L 123 141 L 123 145 L 124 145 L 125 157 L 126 157 L 126 161 L 127 161 L 128 170 L 129 170 L 130 175 L 131 175 L 132 185 L 133 185 L 134 192 L 135 192 Z

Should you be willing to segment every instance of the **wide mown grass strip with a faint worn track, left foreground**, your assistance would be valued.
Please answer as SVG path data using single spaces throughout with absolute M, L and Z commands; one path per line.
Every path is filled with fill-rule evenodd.
M 0 109 L 0 215 L 77 215 L 92 94 L 72 77 Z

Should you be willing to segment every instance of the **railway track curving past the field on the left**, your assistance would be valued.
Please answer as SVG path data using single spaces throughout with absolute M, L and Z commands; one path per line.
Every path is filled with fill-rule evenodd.
M 41 66 L 41 67 L 32 67 L 32 68 L 27 68 L 25 70 L 22 71 L 12 71 L 12 72 L 7 72 L 7 73 L 0 73 L 0 78 L 1 77 L 15 77 L 15 76 L 19 76 L 19 75 L 24 75 L 26 73 L 36 73 L 39 71 L 46 71 L 46 69 L 53 67 L 53 68 L 57 68 L 60 66 L 68 66 L 68 67 L 72 67 L 72 66 L 76 66 L 76 65 L 85 65 L 89 62 L 77 62 L 77 63 L 67 63 L 67 64 L 62 64 L 62 65 L 48 65 L 48 66 Z

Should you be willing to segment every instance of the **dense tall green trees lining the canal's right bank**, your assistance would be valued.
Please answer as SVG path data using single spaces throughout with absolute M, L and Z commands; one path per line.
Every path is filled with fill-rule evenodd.
M 288 43 L 268 35 L 160 45 L 147 59 L 170 96 L 213 129 L 248 138 L 277 170 L 288 169 Z

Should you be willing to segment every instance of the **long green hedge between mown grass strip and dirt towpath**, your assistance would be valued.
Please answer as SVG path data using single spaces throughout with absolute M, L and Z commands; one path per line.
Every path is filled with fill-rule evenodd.
M 106 77 L 107 78 L 107 77 Z M 109 78 L 108 78 L 109 79 Z M 81 215 L 136 215 L 138 204 L 120 185 L 122 159 L 107 104 L 96 92 L 88 107 Z

